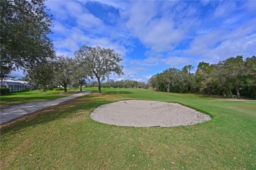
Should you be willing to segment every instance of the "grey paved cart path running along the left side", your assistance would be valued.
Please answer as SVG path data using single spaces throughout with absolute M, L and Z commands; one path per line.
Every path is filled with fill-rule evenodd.
M 27 114 L 32 114 L 33 112 L 36 112 L 38 110 L 43 110 L 47 107 L 52 107 L 64 101 L 68 101 L 76 97 L 87 95 L 89 93 L 90 92 L 76 93 L 74 95 L 70 95 L 68 97 L 62 97 L 59 99 L 53 99 L 53 100 L 47 100 L 47 101 L 32 101 L 28 103 L 22 103 L 18 105 L 11 105 L 8 107 L 4 107 L 1 109 L 1 112 L 0 112 L 0 124 L 4 124 L 16 118 L 20 118 Z

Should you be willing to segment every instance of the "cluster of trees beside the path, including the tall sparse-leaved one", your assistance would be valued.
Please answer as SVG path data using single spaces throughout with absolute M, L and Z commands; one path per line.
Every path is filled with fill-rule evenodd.
M 47 90 L 61 85 L 67 92 L 68 85 L 81 87 L 89 78 L 96 78 L 98 92 L 101 92 L 101 83 L 112 73 L 123 74 L 123 67 L 119 65 L 120 55 L 108 48 L 89 47 L 83 45 L 74 54 L 75 58 L 58 56 L 51 61 L 39 63 L 28 69 L 26 80 Z

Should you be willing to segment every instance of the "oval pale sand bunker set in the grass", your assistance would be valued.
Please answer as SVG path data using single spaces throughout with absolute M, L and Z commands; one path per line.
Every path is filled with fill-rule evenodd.
M 91 113 L 91 118 L 117 126 L 188 126 L 211 120 L 211 117 L 177 103 L 126 100 L 102 105 Z

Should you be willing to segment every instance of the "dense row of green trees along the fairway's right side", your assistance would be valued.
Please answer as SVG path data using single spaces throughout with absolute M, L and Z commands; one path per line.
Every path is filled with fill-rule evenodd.
M 217 64 L 200 62 L 192 73 L 192 65 L 181 70 L 169 68 L 150 78 L 152 88 L 162 92 L 192 92 L 225 97 L 256 98 L 256 57 L 228 58 Z

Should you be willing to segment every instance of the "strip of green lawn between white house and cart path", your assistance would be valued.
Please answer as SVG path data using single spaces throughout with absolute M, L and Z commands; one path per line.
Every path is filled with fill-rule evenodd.
M 77 89 L 68 90 L 68 92 L 75 92 Z M 25 103 L 29 101 L 58 99 L 71 95 L 70 93 L 63 93 L 64 90 L 49 90 L 41 92 L 40 90 L 31 90 L 27 92 L 12 92 L 0 95 L 0 106 L 6 107 L 7 105 Z

